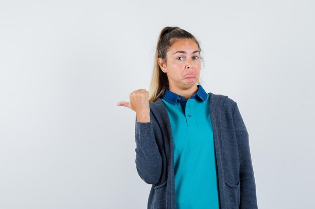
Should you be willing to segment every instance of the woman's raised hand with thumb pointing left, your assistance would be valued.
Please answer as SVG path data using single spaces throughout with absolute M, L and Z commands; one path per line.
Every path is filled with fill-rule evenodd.
M 136 112 L 137 122 L 150 122 L 149 92 L 137 89 L 129 94 L 130 102 L 120 101 L 117 106 L 125 106 Z

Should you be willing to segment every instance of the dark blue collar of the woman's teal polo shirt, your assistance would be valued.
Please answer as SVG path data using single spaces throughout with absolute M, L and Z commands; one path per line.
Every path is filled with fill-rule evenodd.
M 196 93 L 194 93 L 189 99 L 196 99 L 198 96 L 200 99 L 202 99 L 203 101 L 207 100 L 207 93 L 206 91 L 202 88 L 202 86 L 199 84 L 197 85 L 198 90 Z M 164 94 L 163 94 L 163 99 L 172 103 L 172 104 L 176 104 L 176 102 L 178 101 L 185 101 L 184 99 L 185 97 L 176 94 L 172 91 L 170 91 L 169 89 L 166 89 Z

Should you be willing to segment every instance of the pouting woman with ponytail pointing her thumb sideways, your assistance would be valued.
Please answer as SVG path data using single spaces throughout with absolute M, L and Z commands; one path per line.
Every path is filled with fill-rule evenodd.
M 152 184 L 147 208 L 258 208 L 246 126 L 236 102 L 200 85 L 200 53 L 192 34 L 165 27 L 149 92 L 117 103 L 136 112 L 136 169 Z

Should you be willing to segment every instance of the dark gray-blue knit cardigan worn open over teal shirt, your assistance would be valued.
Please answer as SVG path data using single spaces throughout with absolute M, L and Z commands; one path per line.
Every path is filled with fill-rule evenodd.
M 255 209 L 256 184 L 249 134 L 238 105 L 209 94 L 221 209 Z M 150 122 L 135 121 L 136 168 L 152 184 L 148 209 L 176 209 L 174 148 L 171 123 L 163 101 L 150 102 Z

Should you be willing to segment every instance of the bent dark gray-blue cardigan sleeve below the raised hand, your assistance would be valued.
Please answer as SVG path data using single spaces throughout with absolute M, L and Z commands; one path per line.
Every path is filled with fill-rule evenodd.
M 162 172 L 162 157 L 156 144 L 153 122 L 135 120 L 136 168 L 139 176 L 148 184 L 157 183 Z

